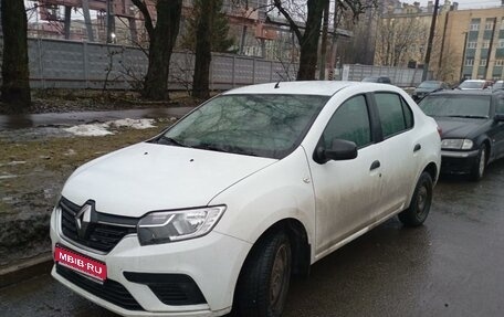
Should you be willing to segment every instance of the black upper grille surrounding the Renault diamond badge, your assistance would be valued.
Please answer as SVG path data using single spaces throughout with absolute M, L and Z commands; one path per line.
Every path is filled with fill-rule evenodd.
M 94 214 L 85 234 L 78 234 L 75 215 L 82 207 L 65 198 L 60 201 L 61 230 L 69 240 L 94 250 L 109 252 L 125 235 L 136 233 L 138 219 L 96 212 L 94 202 L 86 203 L 92 204 Z

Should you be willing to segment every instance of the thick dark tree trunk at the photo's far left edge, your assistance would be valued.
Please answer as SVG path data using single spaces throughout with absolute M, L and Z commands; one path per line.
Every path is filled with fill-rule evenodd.
M 27 12 L 23 0 L 2 0 L 3 32 L 2 102 L 7 110 L 22 113 L 31 104 Z M 9 32 L 7 32 L 9 30 Z

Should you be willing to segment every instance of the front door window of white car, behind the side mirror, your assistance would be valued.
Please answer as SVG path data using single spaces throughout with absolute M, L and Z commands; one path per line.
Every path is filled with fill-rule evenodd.
M 334 113 L 324 133 L 326 148 L 330 148 L 333 139 L 353 141 L 358 148 L 371 142 L 371 128 L 366 98 L 360 95 L 343 103 Z

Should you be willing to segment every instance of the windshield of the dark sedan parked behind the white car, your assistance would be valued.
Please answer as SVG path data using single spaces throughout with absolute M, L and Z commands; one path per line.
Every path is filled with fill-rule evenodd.
M 428 116 L 487 118 L 490 104 L 490 96 L 430 95 L 419 106 Z

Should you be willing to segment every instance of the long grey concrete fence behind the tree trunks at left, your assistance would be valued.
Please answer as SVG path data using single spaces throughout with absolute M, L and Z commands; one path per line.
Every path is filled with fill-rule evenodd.
M 147 72 L 146 52 L 139 47 L 99 43 L 29 39 L 30 85 L 32 88 L 138 88 Z M 195 55 L 174 52 L 168 89 L 191 87 Z M 293 81 L 296 64 L 212 54 L 210 88 Z

